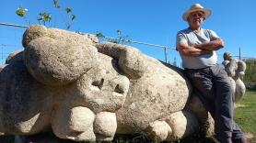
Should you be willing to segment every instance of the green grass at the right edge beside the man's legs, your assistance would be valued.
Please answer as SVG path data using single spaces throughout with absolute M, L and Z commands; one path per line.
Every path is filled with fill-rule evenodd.
M 256 90 L 247 90 L 235 109 L 234 118 L 241 129 L 253 135 L 250 142 L 256 142 Z

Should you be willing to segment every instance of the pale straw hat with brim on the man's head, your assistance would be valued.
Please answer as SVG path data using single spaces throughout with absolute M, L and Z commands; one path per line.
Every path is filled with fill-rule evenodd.
M 195 11 L 202 11 L 202 12 L 204 12 L 205 19 L 207 17 L 210 17 L 211 14 L 212 14 L 211 10 L 204 8 L 200 4 L 194 4 L 194 5 L 191 6 L 191 8 L 188 11 L 186 11 L 183 14 L 183 16 L 182 16 L 183 20 L 187 21 L 188 17 L 191 15 L 191 13 L 195 12 Z

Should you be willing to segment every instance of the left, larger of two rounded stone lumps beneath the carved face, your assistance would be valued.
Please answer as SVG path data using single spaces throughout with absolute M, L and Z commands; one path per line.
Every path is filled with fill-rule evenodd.
M 52 114 L 53 133 L 60 138 L 68 138 L 76 141 L 95 141 L 93 132 L 94 113 L 83 106 L 72 109 L 66 106 L 54 110 Z

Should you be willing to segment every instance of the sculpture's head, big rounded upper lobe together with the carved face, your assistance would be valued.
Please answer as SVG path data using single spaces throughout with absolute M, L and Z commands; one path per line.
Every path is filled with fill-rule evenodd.
M 100 54 L 91 39 L 31 26 L 23 36 L 25 65 L 37 81 L 65 88 L 66 104 L 84 105 L 95 113 L 115 112 L 124 103 L 129 80 L 118 70 L 117 61 Z

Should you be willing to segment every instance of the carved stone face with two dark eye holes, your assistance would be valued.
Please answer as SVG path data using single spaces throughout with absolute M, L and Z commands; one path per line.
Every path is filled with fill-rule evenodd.
M 99 53 L 99 62 L 77 82 L 77 90 L 93 112 L 115 112 L 122 107 L 129 79 L 117 69 L 117 61 Z

